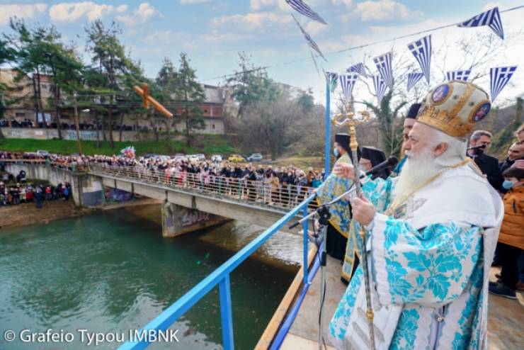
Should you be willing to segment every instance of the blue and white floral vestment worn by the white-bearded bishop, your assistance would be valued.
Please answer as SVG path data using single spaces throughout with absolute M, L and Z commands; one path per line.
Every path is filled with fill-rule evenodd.
M 499 195 L 467 164 L 445 171 L 387 216 L 394 181 L 363 186 L 377 207 L 367 243 L 375 348 L 486 349 Z M 359 266 L 329 324 L 337 349 L 370 349 L 364 284 Z

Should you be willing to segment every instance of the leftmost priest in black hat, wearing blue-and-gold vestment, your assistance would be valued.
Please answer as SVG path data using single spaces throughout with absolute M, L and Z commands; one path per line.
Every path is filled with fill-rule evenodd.
M 336 134 L 333 148 L 336 157 L 335 164 L 351 164 L 351 149 L 349 148 L 349 135 Z M 317 203 L 328 203 L 342 193 L 349 190 L 349 183 L 336 174 L 329 174 L 326 181 L 317 189 Z M 331 219 L 327 227 L 326 252 L 335 259 L 342 260 L 346 253 L 348 242 L 349 223 L 351 220 L 349 202 L 346 199 L 329 207 Z

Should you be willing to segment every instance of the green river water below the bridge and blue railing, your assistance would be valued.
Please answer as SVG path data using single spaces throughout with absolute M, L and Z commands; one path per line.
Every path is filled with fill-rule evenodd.
M 0 349 L 86 349 L 86 332 L 128 338 L 129 329 L 143 327 L 262 230 L 229 222 L 164 239 L 158 205 L 2 230 L 0 331 L 12 329 L 16 340 L 0 339 Z M 279 232 L 232 273 L 237 349 L 256 345 L 301 259 L 300 237 Z M 24 339 L 47 329 L 74 339 L 27 343 L 19 339 L 23 329 Z M 171 329 L 178 329 L 180 343 L 149 348 L 221 349 L 217 288 Z M 118 345 L 104 341 L 88 348 Z

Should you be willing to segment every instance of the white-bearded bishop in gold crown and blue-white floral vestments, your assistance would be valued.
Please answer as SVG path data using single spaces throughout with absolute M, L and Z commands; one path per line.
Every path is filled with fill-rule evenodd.
M 490 108 L 472 83 L 439 84 L 409 132 L 399 176 L 366 181 L 351 199 L 368 237 L 375 349 L 486 349 L 489 267 L 504 210 L 466 147 Z M 348 183 L 355 176 L 351 164 L 334 173 Z M 365 284 L 359 266 L 329 325 L 337 349 L 369 349 Z

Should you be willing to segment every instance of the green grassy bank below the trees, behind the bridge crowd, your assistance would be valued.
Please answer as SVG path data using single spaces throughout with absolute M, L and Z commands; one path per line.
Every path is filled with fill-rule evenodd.
M 100 148 L 96 147 L 96 141 L 82 141 L 82 152 L 84 154 L 118 154 L 120 149 L 133 146 L 137 155 L 175 154 L 178 152 L 204 153 L 204 154 L 230 154 L 236 150 L 228 142 L 226 135 L 198 135 L 192 142 L 191 147 L 186 146 L 183 140 L 160 140 L 156 141 L 115 141 L 115 148 L 109 147 L 109 142 L 101 141 Z M 37 149 L 45 149 L 50 153 L 74 154 L 78 153 L 76 141 L 71 140 L 34 140 L 34 139 L 0 139 L 0 149 L 12 152 L 35 152 Z

